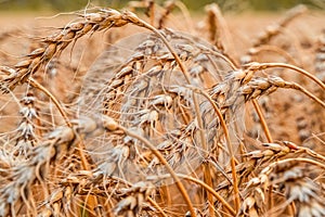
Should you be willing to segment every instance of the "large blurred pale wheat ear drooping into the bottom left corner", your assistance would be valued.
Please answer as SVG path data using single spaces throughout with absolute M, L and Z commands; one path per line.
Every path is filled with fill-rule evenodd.
M 49 164 L 65 154 L 64 150 L 69 150 L 74 140 L 75 133 L 70 128 L 55 129 L 48 136 L 47 141 L 37 144 L 28 153 L 25 162 L 12 166 L 6 176 L 1 177 L 1 182 L 4 184 L 0 190 L 1 216 L 15 216 L 15 207 L 20 202 L 27 206 L 28 213 L 36 215 L 32 184 L 36 181 L 43 183 Z M 44 193 L 47 194 L 47 191 Z

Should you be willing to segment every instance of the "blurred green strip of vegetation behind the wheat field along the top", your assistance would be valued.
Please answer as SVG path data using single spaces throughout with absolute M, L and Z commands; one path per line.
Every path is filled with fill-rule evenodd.
M 216 2 L 223 11 L 242 10 L 286 10 L 296 4 L 303 3 L 314 9 L 325 9 L 325 0 L 182 0 L 191 10 L 202 10 L 204 5 Z M 0 0 L 0 11 L 32 11 L 32 10 L 54 10 L 75 11 L 94 5 L 122 8 L 128 4 L 126 0 Z M 156 0 L 164 4 L 162 0 Z M 1 12 L 0 12 L 1 13 Z

